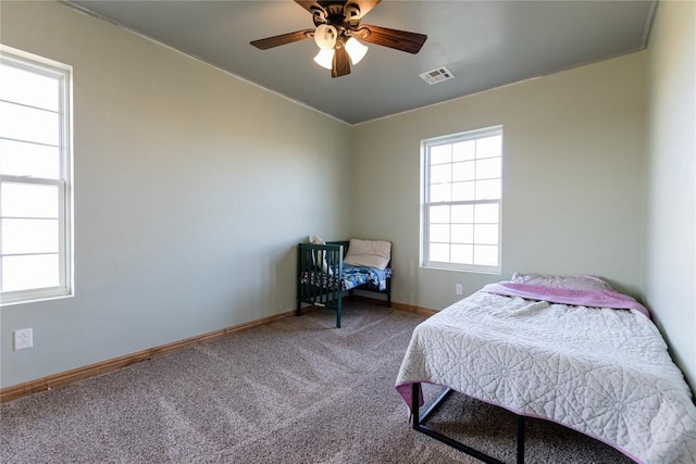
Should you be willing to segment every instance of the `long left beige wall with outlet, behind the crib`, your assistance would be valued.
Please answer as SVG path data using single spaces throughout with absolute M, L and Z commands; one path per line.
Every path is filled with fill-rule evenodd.
M 67 7 L 1 8 L 2 43 L 74 66 L 76 280 L 2 308 L 2 386 L 294 309 L 294 246 L 349 227 L 350 127 Z

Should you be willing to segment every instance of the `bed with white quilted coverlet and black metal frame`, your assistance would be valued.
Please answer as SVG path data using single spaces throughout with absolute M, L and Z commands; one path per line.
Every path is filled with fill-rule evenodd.
M 445 387 L 420 414 L 421 384 Z M 452 391 L 556 422 L 639 463 L 696 462 L 696 406 L 649 314 L 594 276 L 515 274 L 420 324 L 396 389 L 413 428 L 499 462 L 426 425 Z

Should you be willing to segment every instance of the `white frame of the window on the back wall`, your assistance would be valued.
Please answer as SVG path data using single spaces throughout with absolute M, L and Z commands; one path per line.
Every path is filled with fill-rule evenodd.
M 430 185 L 431 185 L 431 149 L 434 147 L 440 147 L 444 145 L 453 145 L 458 142 L 475 140 L 492 136 L 501 137 L 501 151 L 500 151 L 500 196 L 499 198 L 483 198 L 477 200 L 467 201 L 439 201 L 432 202 L 430 199 Z M 501 273 L 502 268 L 502 160 L 504 160 L 504 147 L 502 147 L 502 126 L 487 127 L 483 129 L 469 130 L 465 133 L 453 134 L 443 137 L 434 137 L 421 141 L 421 265 L 430 268 L 443 268 L 461 272 L 483 273 L 483 274 L 497 274 Z M 474 177 L 480 179 L 478 177 Z M 430 206 L 432 205 L 461 205 L 461 204 L 497 204 L 498 205 L 498 239 L 497 239 L 497 263 L 495 265 L 483 264 L 463 264 L 456 263 L 451 260 L 448 262 L 433 261 L 430 258 Z M 451 223 L 450 223 L 451 224 Z M 477 224 L 475 221 L 473 224 Z M 449 243 L 452 243 L 451 237 Z M 473 246 L 477 242 L 473 240 Z M 478 243 L 482 244 L 482 243 Z

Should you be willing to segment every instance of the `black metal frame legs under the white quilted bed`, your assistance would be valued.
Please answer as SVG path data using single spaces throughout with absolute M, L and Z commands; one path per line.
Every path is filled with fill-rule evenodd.
M 459 451 L 463 451 L 464 453 L 472 455 L 485 463 L 488 464 L 505 464 L 502 461 L 493 457 L 488 454 L 485 454 L 476 449 L 468 447 L 467 444 L 457 441 L 450 437 L 447 437 L 438 431 L 433 430 L 432 428 L 424 425 L 424 423 L 430 418 L 430 416 L 435 413 L 439 406 L 442 406 L 447 399 L 452 394 L 455 390 L 451 388 L 447 388 L 434 402 L 430 405 L 430 407 L 422 414 L 419 415 L 419 402 L 421 399 L 421 384 L 415 383 L 412 385 L 411 390 L 411 412 L 413 413 L 413 429 L 418 430 L 422 434 L 427 435 L 438 441 L 442 441 L 445 444 L 449 444 L 452 448 L 458 449 Z M 517 454 L 517 463 L 524 464 L 524 423 L 525 417 L 517 414 L 518 417 L 518 454 Z

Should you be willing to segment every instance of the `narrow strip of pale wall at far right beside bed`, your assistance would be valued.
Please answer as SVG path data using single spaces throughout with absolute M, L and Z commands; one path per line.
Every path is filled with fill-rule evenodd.
M 645 297 L 696 388 L 696 2 L 660 1 L 648 58 Z

